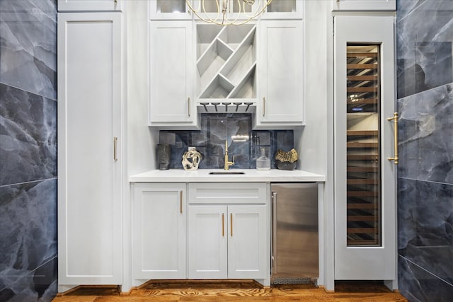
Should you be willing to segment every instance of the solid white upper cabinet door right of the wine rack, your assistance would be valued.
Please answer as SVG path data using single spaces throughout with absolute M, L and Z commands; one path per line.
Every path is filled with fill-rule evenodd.
M 303 21 L 261 21 L 256 125 L 304 122 Z

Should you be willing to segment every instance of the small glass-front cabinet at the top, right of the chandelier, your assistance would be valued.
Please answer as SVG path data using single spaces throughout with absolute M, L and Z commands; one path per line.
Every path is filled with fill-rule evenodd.
M 304 1 L 274 0 L 266 8 L 261 20 L 267 19 L 302 19 L 304 16 Z

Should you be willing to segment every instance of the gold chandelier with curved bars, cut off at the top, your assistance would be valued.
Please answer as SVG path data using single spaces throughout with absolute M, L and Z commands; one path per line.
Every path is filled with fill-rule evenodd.
M 185 0 L 200 20 L 217 25 L 245 24 L 263 13 L 270 2 L 272 0 Z

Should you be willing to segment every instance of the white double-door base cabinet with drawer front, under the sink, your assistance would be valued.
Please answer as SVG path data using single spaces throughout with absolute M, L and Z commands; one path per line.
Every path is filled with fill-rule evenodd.
M 265 183 L 189 184 L 189 279 L 266 279 Z

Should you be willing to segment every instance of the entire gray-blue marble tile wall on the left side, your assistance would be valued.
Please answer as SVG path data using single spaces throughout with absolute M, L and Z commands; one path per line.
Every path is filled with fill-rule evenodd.
M 57 293 L 57 4 L 0 0 L 0 301 Z

